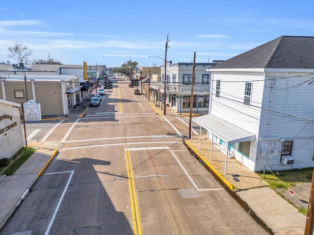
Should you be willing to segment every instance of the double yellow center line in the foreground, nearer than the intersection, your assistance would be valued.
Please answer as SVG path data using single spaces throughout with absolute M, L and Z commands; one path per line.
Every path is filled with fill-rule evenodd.
M 129 179 L 129 192 L 131 200 L 131 211 L 132 211 L 132 221 L 133 221 L 133 230 L 135 235 L 142 235 L 141 224 L 139 219 L 139 211 L 136 199 L 134 178 L 132 172 L 132 164 L 130 158 L 130 151 L 126 151 L 126 162 L 127 162 L 127 171 Z

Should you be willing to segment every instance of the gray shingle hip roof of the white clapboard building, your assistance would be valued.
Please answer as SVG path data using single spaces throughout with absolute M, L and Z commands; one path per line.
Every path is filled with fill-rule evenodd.
M 210 69 L 314 69 L 314 37 L 281 36 Z

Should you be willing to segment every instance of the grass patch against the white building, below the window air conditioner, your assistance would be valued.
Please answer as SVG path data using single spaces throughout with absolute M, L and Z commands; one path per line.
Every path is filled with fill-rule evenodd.
M 273 174 L 274 173 L 274 174 Z M 292 169 L 284 171 L 265 172 L 264 180 L 269 184 L 269 188 L 292 188 L 296 184 L 311 183 L 313 175 L 313 167 L 305 169 Z M 263 177 L 263 172 L 257 172 Z M 285 186 L 286 185 L 286 186 Z

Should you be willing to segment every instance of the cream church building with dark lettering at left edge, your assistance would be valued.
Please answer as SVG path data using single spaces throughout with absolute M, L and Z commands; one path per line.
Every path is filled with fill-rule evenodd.
M 0 99 L 0 159 L 13 157 L 23 147 L 20 108 Z

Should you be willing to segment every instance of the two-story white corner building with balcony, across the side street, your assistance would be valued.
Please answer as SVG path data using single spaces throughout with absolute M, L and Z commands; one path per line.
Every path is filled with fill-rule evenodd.
M 220 62 L 220 61 L 219 61 Z M 210 71 L 216 63 L 195 63 L 193 84 L 193 112 L 208 111 L 210 91 Z M 161 81 L 151 82 L 155 89 L 157 102 L 166 102 L 178 113 L 189 112 L 192 91 L 193 63 L 172 63 L 167 61 L 166 77 L 165 66 L 161 66 Z M 166 83 L 166 92 L 164 92 Z M 166 95 L 164 95 L 166 94 Z

